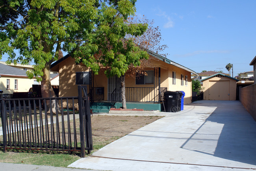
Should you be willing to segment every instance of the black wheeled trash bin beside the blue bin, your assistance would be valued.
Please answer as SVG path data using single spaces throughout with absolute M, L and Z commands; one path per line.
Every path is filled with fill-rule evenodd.
M 165 110 L 166 112 L 180 111 L 180 92 L 165 92 Z

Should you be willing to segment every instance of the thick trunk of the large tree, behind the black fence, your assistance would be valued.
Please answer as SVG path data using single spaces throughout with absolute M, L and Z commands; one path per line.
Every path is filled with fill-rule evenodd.
M 41 81 L 41 95 L 42 97 L 56 97 L 54 90 L 51 85 L 51 77 L 50 77 L 50 63 L 45 64 L 45 68 L 43 68 L 43 77 Z M 56 101 L 52 100 L 52 112 L 56 113 Z M 46 101 L 47 108 L 50 109 L 50 101 Z M 58 112 L 60 112 L 59 105 L 57 103 Z

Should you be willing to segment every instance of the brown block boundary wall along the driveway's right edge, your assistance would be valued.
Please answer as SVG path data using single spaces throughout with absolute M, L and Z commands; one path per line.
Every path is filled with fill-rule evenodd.
M 239 100 L 256 121 L 256 84 L 239 88 Z

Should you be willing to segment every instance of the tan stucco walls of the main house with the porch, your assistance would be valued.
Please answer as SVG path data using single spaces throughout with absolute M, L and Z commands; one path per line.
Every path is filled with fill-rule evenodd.
M 185 99 L 184 104 L 191 103 L 191 73 L 178 68 L 176 66 L 167 64 L 163 61 L 158 61 L 161 63 L 160 69 L 160 82 L 161 87 L 167 87 L 168 91 L 184 91 Z M 77 96 L 77 87 L 76 85 L 76 72 L 89 71 L 88 68 L 81 65 L 76 65 L 74 59 L 67 58 L 63 62 L 59 63 L 59 66 L 55 66 L 54 69 L 59 67 L 59 97 L 65 96 Z M 147 70 L 154 70 L 154 68 L 148 68 Z M 172 84 L 172 72 L 176 72 L 176 85 Z M 139 101 L 145 101 L 145 98 L 153 99 L 154 91 L 155 95 L 157 94 L 158 89 L 158 67 L 155 69 L 154 84 L 155 89 L 146 93 L 146 97 L 138 97 Z M 184 85 L 181 86 L 181 74 L 184 75 Z M 187 75 L 187 85 L 186 84 L 186 75 Z M 148 85 L 136 85 L 134 77 L 125 78 L 126 87 L 154 87 L 154 84 Z M 100 72 L 98 75 L 94 75 L 94 87 L 104 87 L 104 100 L 108 100 L 108 78 L 104 75 L 104 72 Z M 89 89 L 89 86 L 88 86 Z M 134 94 L 135 92 L 133 92 Z M 155 100 L 158 101 L 158 96 L 155 97 Z

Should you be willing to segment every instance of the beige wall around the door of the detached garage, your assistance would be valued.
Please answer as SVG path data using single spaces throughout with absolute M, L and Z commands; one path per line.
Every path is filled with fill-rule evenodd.
M 211 77 L 203 81 L 204 87 L 204 100 L 209 100 L 209 88 L 210 88 L 210 81 L 230 81 L 229 84 L 229 100 L 236 100 L 236 80 L 230 79 L 228 77 Z M 214 90 L 213 90 L 214 91 Z M 218 90 L 215 90 L 216 94 L 219 94 Z

